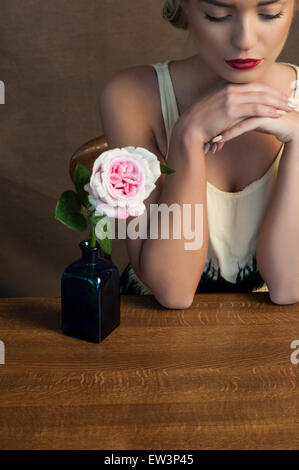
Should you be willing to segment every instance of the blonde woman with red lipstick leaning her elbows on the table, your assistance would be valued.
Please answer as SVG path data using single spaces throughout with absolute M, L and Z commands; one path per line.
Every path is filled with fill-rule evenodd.
M 134 144 L 129 129 L 125 137 L 112 132 L 112 126 L 123 125 L 117 126 L 117 99 L 118 114 L 112 112 L 113 84 L 102 95 L 109 146 L 147 147 L 176 170 L 161 176 L 147 207 L 174 202 L 204 207 L 200 250 L 184 250 L 184 238 L 127 240 L 130 262 L 121 276 L 122 294 L 154 294 L 168 308 L 188 308 L 194 293 L 263 286 L 275 303 L 299 299 L 299 223 L 294 223 L 299 67 L 276 61 L 297 6 L 295 0 L 262 3 L 165 2 L 163 17 L 189 30 L 198 53 L 135 67 L 114 80 L 114 96 L 124 94 L 120 82 L 129 96 L 134 82 L 140 101 L 149 97 L 156 147 L 143 137 Z M 248 58 L 258 61 L 232 62 Z M 133 119 L 132 114 L 131 126 Z

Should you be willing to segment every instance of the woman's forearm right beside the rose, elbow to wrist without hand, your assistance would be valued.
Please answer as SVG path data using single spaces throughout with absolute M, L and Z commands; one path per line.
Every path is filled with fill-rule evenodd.
M 158 204 L 172 204 L 180 207 L 181 220 L 174 218 L 169 211 L 169 239 L 161 238 L 161 218 L 159 219 L 158 239 L 146 239 L 140 255 L 140 270 L 144 283 L 156 293 L 161 303 L 173 308 L 187 308 L 192 304 L 198 286 L 208 249 L 208 223 L 206 210 L 206 168 L 203 146 L 197 140 L 187 139 L 178 125 L 173 129 L 167 165 L 176 170 L 166 175 Z M 189 206 L 191 226 L 183 204 Z M 202 204 L 203 213 L 197 212 L 195 205 Z M 166 214 L 166 213 L 165 213 Z M 201 217 L 202 215 L 202 217 Z M 190 219 L 190 218 L 189 218 Z M 195 222 L 199 225 L 196 226 Z M 191 240 L 184 236 L 183 227 L 202 231 L 202 246 L 196 249 L 195 240 L 190 250 L 186 243 Z M 179 239 L 173 238 L 177 228 Z

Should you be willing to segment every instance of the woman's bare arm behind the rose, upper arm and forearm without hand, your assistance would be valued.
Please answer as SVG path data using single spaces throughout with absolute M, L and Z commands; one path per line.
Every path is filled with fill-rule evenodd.
M 172 239 L 170 217 L 169 239 L 161 239 L 159 221 L 158 239 L 150 239 L 149 233 L 147 239 L 127 238 L 127 250 L 134 271 L 159 303 L 168 308 L 187 308 L 193 301 L 208 246 L 203 144 L 199 145 L 198 139 L 187 137 L 184 126 L 177 121 L 166 163 L 152 132 L 151 106 L 143 90 L 136 75 L 130 70 L 113 78 L 103 90 L 101 116 L 108 145 L 110 148 L 129 145 L 144 147 L 155 153 L 161 163 L 176 170 L 173 174 L 162 174 L 156 182 L 156 188 L 145 201 L 148 225 L 151 204 L 178 204 L 181 214 L 182 205 L 189 204 L 192 216 L 190 229 L 194 230 L 195 204 L 203 204 L 203 220 L 200 220 L 200 230 L 203 226 L 203 244 L 199 249 L 186 250 L 184 244 L 193 240 L 185 238 L 183 233 L 180 239 Z M 127 224 L 132 219 L 133 217 L 129 217 Z M 178 228 L 181 229 L 181 224 L 179 225 Z

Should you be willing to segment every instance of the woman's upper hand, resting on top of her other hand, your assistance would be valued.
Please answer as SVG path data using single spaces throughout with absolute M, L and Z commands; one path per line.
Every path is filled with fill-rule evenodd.
M 280 118 L 277 111 L 290 112 L 288 96 L 268 85 L 245 85 L 223 81 L 181 116 L 185 135 L 195 137 L 203 145 L 218 134 L 249 118 Z M 279 119 L 280 121 L 280 119 Z M 260 122 L 260 121 L 259 121 Z

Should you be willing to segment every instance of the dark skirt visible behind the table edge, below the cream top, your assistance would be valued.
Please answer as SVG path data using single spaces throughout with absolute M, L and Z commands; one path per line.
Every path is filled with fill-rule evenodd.
M 248 268 L 248 267 L 246 267 Z M 253 292 L 265 286 L 265 282 L 257 269 L 254 257 L 252 269 L 240 268 L 236 283 L 224 279 L 220 270 L 210 274 L 210 270 L 204 271 L 198 283 L 196 293 L 200 292 Z M 244 275 L 244 272 L 249 274 Z M 267 290 L 267 289 L 264 289 Z M 151 290 L 139 279 L 131 263 L 125 267 L 120 278 L 120 293 L 131 295 L 153 295 Z

